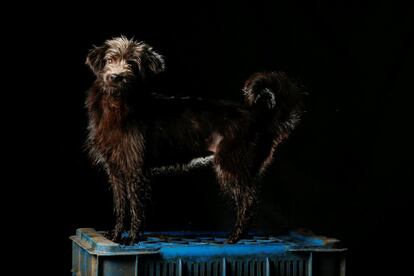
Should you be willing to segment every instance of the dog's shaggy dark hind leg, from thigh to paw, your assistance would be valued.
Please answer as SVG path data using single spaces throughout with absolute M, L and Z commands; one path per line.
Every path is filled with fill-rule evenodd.
M 224 142 L 224 141 L 223 141 Z M 257 182 L 252 177 L 248 149 L 221 143 L 215 155 L 215 171 L 224 194 L 229 196 L 236 211 L 236 222 L 228 243 L 236 243 L 247 233 L 257 207 Z

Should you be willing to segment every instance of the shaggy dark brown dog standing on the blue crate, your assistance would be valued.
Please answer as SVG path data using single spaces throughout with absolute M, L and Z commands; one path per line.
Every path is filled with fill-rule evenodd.
M 234 203 L 228 243 L 236 243 L 255 213 L 260 175 L 299 122 L 298 86 L 284 73 L 265 72 L 246 81 L 244 104 L 152 94 L 148 79 L 165 69 L 163 57 L 125 37 L 94 47 L 86 64 L 96 75 L 86 99 L 87 148 L 113 190 L 116 225 L 109 238 L 140 239 L 151 175 L 212 163 Z

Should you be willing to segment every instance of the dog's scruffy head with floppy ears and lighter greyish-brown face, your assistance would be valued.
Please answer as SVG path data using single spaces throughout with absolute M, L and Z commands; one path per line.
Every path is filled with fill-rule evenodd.
M 163 57 L 151 46 L 124 36 L 95 46 L 86 64 L 106 87 L 113 89 L 144 81 L 165 69 Z

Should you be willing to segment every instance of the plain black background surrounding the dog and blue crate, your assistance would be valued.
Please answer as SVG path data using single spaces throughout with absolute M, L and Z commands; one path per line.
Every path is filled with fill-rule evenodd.
M 268 170 L 252 228 L 339 238 L 349 248 L 348 275 L 397 275 L 409 264 L 402 253 L 412 229 L 414 27 L 407 7 L 283 1 L 24 8 L 29 13 L 11 31 L 22 42 L 6 54 L 23 58 L 14 64 L 20 109 L 5 104 L 13 110 L 6 119 L 16 118 L 19 151 L 12 161 L 19 196 L 8 208 L 17 210 L 12 225 L 22 223 L 24 237 L 33 233 L 36 248 L 43 247 L 43 274 L 69 275 L 68 237 L 76 228 L 113 223 L 109 185 L 82 148 L 83 101 L 93 81 L 84 61 L 93 44 L 120 34 L 165 56 L 168 69 L 156 86 L 166 94 L 241 101 L 251 73 L 282 70 L 300 80 L 309 92 L 307 113 Z M 209 170 L 158 178 L 153 190 L 149 230 L 232 225 Z

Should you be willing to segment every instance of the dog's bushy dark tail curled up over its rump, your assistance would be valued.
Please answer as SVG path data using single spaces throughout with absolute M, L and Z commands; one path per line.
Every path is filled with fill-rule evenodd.
M 302 114 L 301 88 L 283 72 L 253 74 L 245 82 L 246 104 L 257 123 L 279 143 L 298 125 Z

